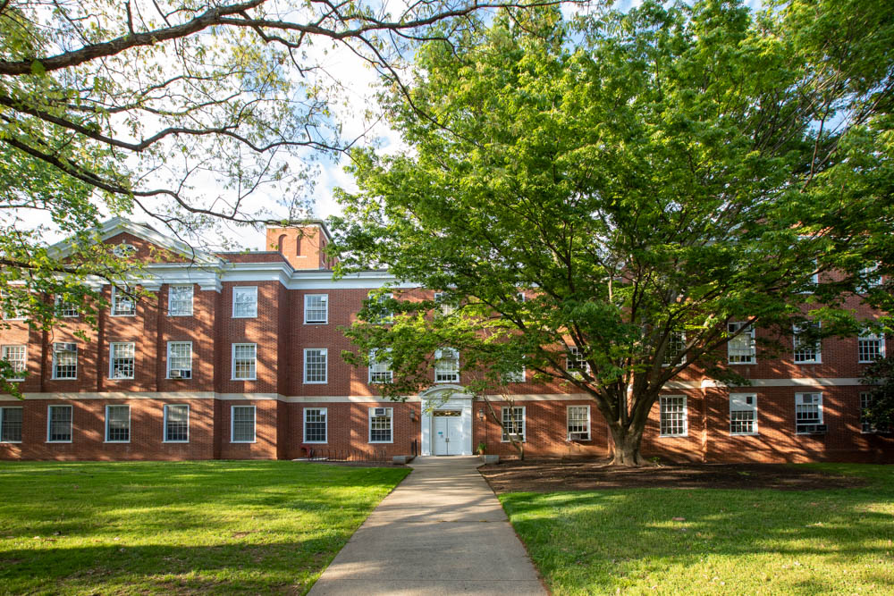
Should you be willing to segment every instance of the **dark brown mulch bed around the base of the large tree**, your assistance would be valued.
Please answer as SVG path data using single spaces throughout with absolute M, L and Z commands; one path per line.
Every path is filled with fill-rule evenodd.
M 481 466 L 497 494 L 598 491 L 601 489 L 775 489 L 811 491 L 865 486 L 852 476 L 825 474 L 785 464 L 671 464 L 611 467 L 607 461 L 533 460 Z

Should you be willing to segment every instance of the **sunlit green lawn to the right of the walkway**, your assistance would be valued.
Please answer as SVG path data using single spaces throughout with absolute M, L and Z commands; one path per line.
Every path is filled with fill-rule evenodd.
M 894 593 L 894 466 L 814 467 L 871 483 L 515 492 L 501 500 L 556 595 Z

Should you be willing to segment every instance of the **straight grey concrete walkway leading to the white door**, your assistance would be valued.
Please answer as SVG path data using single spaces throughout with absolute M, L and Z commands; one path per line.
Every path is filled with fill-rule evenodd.
M 310 590 L 545 594 L 477 457 L 417 457 Z

